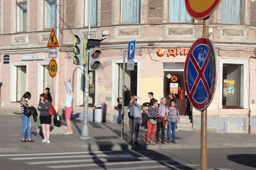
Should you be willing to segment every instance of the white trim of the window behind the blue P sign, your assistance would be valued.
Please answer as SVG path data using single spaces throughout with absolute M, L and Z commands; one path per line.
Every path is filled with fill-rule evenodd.
M 137 96 L 140 96 L 140 78 L 141 78 L 141 60 L 135 59 L 135 63 L 137 63 Z M 117 98 L 118 98 L 118 64 L 122 64 L 123 59 L 114 59 L 112 60 L 112 97 L 111 97 L 111 107 L 118 106 Z M 127 59 L 125 59 L 125 63 L 127 63 Z M 126 67 L 125 67 L 126 69 Z M 140 100 L 139 100 L 140 102 Z

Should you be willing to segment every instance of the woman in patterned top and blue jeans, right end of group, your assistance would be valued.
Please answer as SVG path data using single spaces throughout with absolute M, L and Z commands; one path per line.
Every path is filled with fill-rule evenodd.
M 167 122 L 168 122 L 168 128 L 167 128 L 167 143 L 171 142 L 171 131 L 172 131 L 172 143 L 176 144 L 175 141 L 175 129 L 177 123 L 180 121 L 180 115 L 179 110 L 176 108 L 176 101 L 172 99 L 170 101 L 170 108 L 169 113 L 167 115 Z

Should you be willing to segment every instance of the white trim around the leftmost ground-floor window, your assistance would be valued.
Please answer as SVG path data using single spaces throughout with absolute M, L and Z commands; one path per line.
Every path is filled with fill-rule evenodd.
M 17 67 L 26 66 L 26 92 L 29 91 L 29 62 L 11 62 L 10 64 L 10 101 L 17 102 Z

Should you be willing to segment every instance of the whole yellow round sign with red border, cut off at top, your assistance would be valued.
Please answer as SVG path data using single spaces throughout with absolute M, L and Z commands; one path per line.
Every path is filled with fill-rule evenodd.
M 185 0 L 188 14 L 197 20 L 208 17 L 219 3 L 220 0 Z

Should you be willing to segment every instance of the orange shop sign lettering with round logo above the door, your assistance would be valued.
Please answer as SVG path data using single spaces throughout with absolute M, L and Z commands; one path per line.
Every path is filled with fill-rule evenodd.
M 188 52 L 189 52 L 189 48 L 169 48 L 167 57 L 169 57 L 170 55 L 172 55 L 173 57 L 175 57 L 176 55 L 188 55 Z M 163 57 L 165 54 L 166 52 L 164 48 L 159 48 L 157 50 L 157 55 L 159 57 Z

